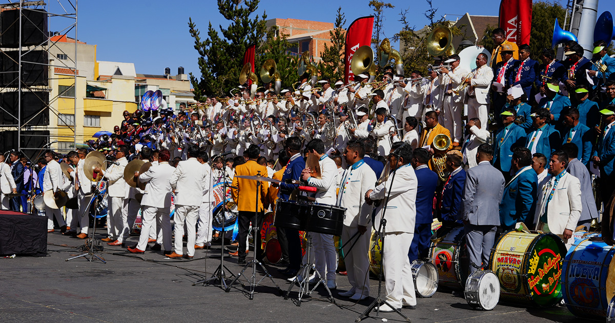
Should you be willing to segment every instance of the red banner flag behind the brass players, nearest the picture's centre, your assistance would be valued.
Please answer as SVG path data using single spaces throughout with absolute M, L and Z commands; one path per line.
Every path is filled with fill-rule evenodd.
M 374 28 L 374 16 L 357 18 L 346 31 L 346 50 L 344 52 L 344 82 L 354 80 L 350 62 L 354 52 L 363 45 L 371 46 L 371 31 Z

